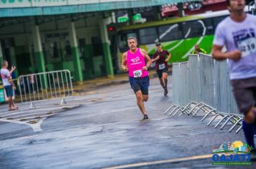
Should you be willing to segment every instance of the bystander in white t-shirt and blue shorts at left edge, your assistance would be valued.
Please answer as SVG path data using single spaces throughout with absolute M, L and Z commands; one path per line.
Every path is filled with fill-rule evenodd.
M 8 69 L 8 62 L 4 60 L 2 68 L 0 70 L 1 79 L 4 84 L 4 90 L 6 92 L 6 96 L 9 98 L 9 110 L 17 110 L 18 107 L 14 104 L 14 100 L 12 100 L 12 97 L 14 95 L 14 90 L 16 90 L 16 87 L 14 85 L 14 82 L 12 81 L 11 74 L 14 72 L 16 67 L 12 66 L 11 71 Z

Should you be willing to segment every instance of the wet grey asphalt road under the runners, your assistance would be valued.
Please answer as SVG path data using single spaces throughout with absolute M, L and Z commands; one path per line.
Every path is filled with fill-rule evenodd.
M 106 168 L 206 155 L 216 144 L 244 141 L 242 132 L 227 131 L 230 125 L 219 130 L 201 117 L 164 115 L 172 96 L 163 96 L 156 78 L 150 81 L 146 122 L 129 84 L 101 87 L 70 102 L 81 106 L 47 117 L 40 132 L 0 121 L 0 168 Z M 226 168 L 211 165 L 211 159 L 140 168 L 182 167 Z

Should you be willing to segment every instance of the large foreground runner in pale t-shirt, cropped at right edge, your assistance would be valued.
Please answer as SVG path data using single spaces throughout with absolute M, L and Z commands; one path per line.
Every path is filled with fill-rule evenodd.
M 216 28 L 212 56 L 229 60 L 230 84 L 239 111 L 244 114 L 242 129 L 255 157 L 256 16 L 246 14 L 244 6 L 244 0 L 227 0 L 230 16 Z M 224 46 L 227 52 L 221 52 Z

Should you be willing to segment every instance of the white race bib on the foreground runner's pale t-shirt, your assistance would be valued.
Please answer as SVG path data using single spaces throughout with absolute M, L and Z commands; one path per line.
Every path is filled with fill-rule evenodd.
M 238 43 L 238 49 L 242 52 L 242 57 L 256 53 L 256 38 L 244 39 Z

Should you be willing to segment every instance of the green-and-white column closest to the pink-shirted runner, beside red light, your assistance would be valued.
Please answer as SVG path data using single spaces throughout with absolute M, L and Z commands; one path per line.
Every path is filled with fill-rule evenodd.
M 104 59 L 106 63 L 106 74 L 108 77 L 114 77 L 114 70 L 113 70 L 113 64 L 112 64 L 112 58 L 111 58 L 111 52 L 110 52 L 110 42 L 108 37 L 108 32 L 106 29 L 106 21 L 102 19 L 99 22 L 100 32 L 101 32 L 101 42 L 104 50 Z

